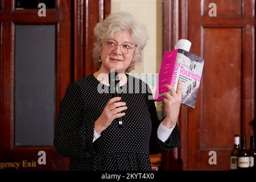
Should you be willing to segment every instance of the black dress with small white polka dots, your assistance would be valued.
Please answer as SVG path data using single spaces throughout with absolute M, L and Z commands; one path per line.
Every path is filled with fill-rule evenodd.
M 180 145 L 177 125 L 166 142 L 158 139 L 162 119 L 158 118 L 154 100 L 148 99 L 151 92 L 143 81 L 126 76 L 128 81 L 121 86 L 122 101 L 127 106 L 123 127 L 114 120 L 94 142 L 94 122 L 113 97 L 110 87 L 93 74 L 68 86 L 60 103 L 54 146 L 60 155 L 71 158 L 71 170 L 151 170 L 151 154 Z M 99 93 L 98 88 L 109 92 Z

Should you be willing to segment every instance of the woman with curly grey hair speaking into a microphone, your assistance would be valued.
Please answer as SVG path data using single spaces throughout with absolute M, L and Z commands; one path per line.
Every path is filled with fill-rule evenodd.
M 176 121 L 181 82 L 177 92 L 166 85 L 166 117 L 159 119 L 147 84 L 127 74 L 142 59 L 146 28 L 120 12 L 98 23 L 94 35 L 94 59 L 100 69 L 68 86 L 60 103 L 55 148 L 71 159 L 72 170 L 151 170 L 151 154 L 180 145 Z M 98 92 L 102 86 L 110 90 L 108 76 L 100 76 L 109 75 L 110 69 L 120 77 L 121 97 Z M 120 117 L 123 127 L 118 125 Z

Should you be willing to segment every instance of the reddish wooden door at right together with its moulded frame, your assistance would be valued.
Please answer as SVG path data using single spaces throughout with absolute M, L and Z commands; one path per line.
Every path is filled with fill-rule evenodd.
M 247 148 L 254 134 L 254 1 L 164 3 L 165 48 L 174 48 L 180 38 L 189 39 L 191 52 L 205 59 L 196 108 L 181 107 L 181 147 L 168 156 L 178 169 L 228 170 L 234 134 L 246 136 Z M 217 16 L 209 16 L 210 3 L 215 3 Z M 210 151 L 216 151 L 217 164 L 209 164 Z

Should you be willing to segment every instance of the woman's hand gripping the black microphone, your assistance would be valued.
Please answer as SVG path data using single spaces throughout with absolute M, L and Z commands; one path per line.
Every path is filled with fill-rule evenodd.
M 127 106 L 125 102 L 118 102 L 121 100 L 121 97 L 111 98 L 106 104 L 104 110 L 102 111 L 100 117 L 96 120 L 94 129 L 97 134 L 101 134 L 103 130 L 105 130 L 116 118 L 120 118 L 125 113 L 121 113 L 121 111 L 126 110 Z

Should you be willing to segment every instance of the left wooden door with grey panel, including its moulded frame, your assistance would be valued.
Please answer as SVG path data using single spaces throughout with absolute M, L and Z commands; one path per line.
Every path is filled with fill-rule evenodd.
M 110 2 L 40 1 L 46 16 L 32 2 L 0 1 L 0 170 L 67 170 L 53 147 L 59 104 L 72 81 L 96 70 L 93 27 Z

